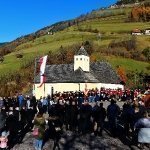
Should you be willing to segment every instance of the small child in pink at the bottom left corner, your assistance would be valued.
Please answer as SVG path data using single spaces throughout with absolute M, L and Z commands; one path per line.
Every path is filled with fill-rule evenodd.
M 0 150 L 7 150 L 7 142 L 8 142 L 9 132 L 3 131 L 0 136 Z

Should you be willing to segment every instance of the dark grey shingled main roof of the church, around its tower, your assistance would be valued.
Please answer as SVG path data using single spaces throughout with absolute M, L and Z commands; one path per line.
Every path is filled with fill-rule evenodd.
M 73 64 L 47 65 L 45 76 L 46 83 L 120 83 L 118 75 L 107 62 L 91 63 L 90 72 L 82 68 L 74 71 Z M 35 81 L 40 83 L 40 75 Z

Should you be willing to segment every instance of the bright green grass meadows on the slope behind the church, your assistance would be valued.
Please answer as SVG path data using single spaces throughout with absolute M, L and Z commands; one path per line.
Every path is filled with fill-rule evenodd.
M 9 71 L 18 70 L 20 66 L 31 59 L 34 59 L 38 55 L 44 55 L 48 51 L 56 51 L 61 45 L 63 47 L 72 45 L 74 43 L 82 43 L 82 40 L 90 40 L 97 43 L 101 47 L 107 47 L 109 42 L 116 39 L 127 39 L 130 38 L 129 34 L 131 30 L 135 28 L 145 29 L 150 26 L 150 23 L 125 23 L 125 15 L 118 15 L 113 17 L 106 17 L 104 19 L 88 20 L 80 23 L 79 26 L 72 26 L 64 31 L 57 32 L 54 35 L 46 35 L 37 38 L 34 42 L 28 42 L 22 44 L 16 48 L 16 51 L 5 56 L 5 61 L 0 64 L 0 74 L 6 74 Z M 97 39 L 96 33 L 91 32 L 80 32 L 80 29 L 98 29 L 103 32 L 101 40 Z M 139 49 L 143 49 L 149 45 L 149 36 L 137 37 Z M 44 41 L 44 43 L 43 43 Z M 25 45 L 30 45 L 30 48 L 25 48 Z M 23 53 L 22 59 L 16 59 L 17 53 Z M 97 56 L 99 57 L 99 56 Z M 131 59 L 122 59 L 111 57 L 107 58 L 108 61 L 115 67 L 116 64 L 124 66 L 127 70 L 143 70 L 148 66 L 148 63 L 137 62 Z

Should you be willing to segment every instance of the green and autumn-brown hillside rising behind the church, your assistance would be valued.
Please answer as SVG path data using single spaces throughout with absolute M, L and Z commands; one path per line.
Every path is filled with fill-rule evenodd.
M 70 63 L 82 44 L 90 53 L 91 61 L 108 61 L 115 70 L 121 66 L 130 81 L 138 76 L 133 82 L 140 83 L 143 76 L 150 73 L 149 59 L 143 53 L 150 47 L 150 36 L 132 36 L 131 31 L 147 29 L 150 23 L 130 22 L 131 9 L 94 10 L 6 44 L 0 49 L 4 56 L 0 64 L 1 93 L 9 91 L 7 94 L 11 95 L 14 90 L 23 90 L 22 87 L 26 87 L 25 91 L 31 88 L 36 57 L 49 54 L 48 63 Z

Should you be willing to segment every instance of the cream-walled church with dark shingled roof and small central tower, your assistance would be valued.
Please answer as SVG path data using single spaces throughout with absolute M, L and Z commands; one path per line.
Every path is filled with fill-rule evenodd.
M 82 46 L 74 56 L 74 63 L 47 65 L 46 81 L 40 85 L 40 75 L 35 79 L 34 94 L 40 96 L 51 95 L 55 92 L 84 91 L 86 89 L 124 89 L 119 76 L 107 62 L 90 62 L 86 50 Z

